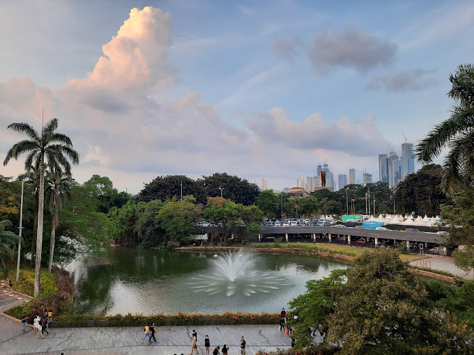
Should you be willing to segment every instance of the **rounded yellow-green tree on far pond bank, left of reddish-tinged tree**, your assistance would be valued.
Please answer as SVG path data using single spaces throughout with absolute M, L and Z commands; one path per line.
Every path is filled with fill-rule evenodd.
M 192 223 L 197 221 L 199 210 L 194 205 L 196 200 L 192 196 L 184 196 L 183 200 L 173 198 L 167 201 L 158 212 L 158 222 L 167 237 L 174 242 L 184 242 L 195 232 Z

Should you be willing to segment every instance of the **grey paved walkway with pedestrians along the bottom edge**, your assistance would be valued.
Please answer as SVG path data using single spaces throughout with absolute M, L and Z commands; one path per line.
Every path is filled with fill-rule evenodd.
M 143 328 L 53 328 L 45 339 L 37 339 L 33 329 L 28 327 L 22 333 L 21 324 L 0 315 L 0 354 L 190 354 L 192 330 L 197 331 L 199 354 L 204 355 L 204 337 L 211 339 L 214 347 L 229 343 L 229 355 L 240 354 L 240 337 L 244 336 L 248 355 L 258 350 L 275 351 L 291 345 L 288 336 L 278 331 L 278 325 L 236 325 L 236 326 L 158 326 L 157 342 L 144 343 Z

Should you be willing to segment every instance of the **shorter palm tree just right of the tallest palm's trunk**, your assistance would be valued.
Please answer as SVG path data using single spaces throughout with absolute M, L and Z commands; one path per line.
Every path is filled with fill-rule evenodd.
M 56 173 L 47 172 L 46 174 L 46 201 L 53 212 L 51 239 L 49 241 L 49 272 L 51 272 L 53 264 L 54 238 L 56 237 L 56 228 L 59 226 L 59 210 L 61 210 L 61 207 L 63 206 L 64 198 L 70 198 L 70 183 L 73 181 L 74 179 L 70 178 L 70 175 L 64 174 L 61 171 L 57 171 Z

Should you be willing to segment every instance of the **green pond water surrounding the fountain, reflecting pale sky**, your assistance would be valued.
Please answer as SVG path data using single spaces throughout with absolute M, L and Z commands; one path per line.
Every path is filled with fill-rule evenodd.
M 346 267 L 307 255 L 107 248 L 66 269 L 75 279 L 80 313 L 150 315 L 280 312 L 305 292 L 306 281 Z M 232 280 L 224 272 L 229 268 L 234 270 Z

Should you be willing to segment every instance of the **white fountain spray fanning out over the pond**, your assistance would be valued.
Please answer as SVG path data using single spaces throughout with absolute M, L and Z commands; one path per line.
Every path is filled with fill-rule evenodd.
M 282 286 L 291 286 L 281 275 L 271 271 L 257 270 L 259 258 L 253 253 L 240 250 L 214 255 L 210 264 L 210 275 L 199 275 L 193 283 L 188 283 L 193 292 L 206 292 L 208 295 L 224 293 L 227 297 L 242 293 L 270 293 Z

